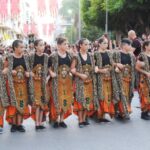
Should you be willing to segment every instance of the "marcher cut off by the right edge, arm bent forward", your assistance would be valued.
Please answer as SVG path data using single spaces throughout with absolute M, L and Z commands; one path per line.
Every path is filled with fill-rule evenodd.
M 143 43 L 143 52 L 139 55 L 136 63 L 139 72 L 139 95 L 141 102 L 141 118 L 150 120 L 150 41 Z

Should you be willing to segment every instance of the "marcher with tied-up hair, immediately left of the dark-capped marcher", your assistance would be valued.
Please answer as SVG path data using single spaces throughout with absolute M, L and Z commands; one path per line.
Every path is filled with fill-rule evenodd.
M 107 49 L 108 40 L 101 37 L 98 40 L 99 49 L 95 52 L 95 72 L 97 73 L 97 95 L 99 100 L 98 119 L 99 122 L 109 122 L 105 114 L 112 118 L 114 111 L 115 77 L 113 67 L 113 55 Z

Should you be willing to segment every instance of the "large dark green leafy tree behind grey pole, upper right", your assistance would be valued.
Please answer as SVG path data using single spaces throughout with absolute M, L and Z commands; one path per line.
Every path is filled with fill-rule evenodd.
M 109 30 L 126 34 L 150 32 L 149 0 L 108 0 Z M 87 25 L 105 28 L 105 0 L 82 0 L 83 20 Z M 86 11 L 85 11 L 86 10 Z

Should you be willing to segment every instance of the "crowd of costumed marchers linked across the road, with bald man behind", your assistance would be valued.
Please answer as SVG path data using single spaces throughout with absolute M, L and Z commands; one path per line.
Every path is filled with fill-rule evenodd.
M 128 32 L 118 48 L 109 48 L 102 36 L 96 45 L 82 38 L 69 46 L 57 38 L 51 50 L 42 39 L 24 50 L 15 40 L 12 50 L 0 57 L 0 133 L 4 116 L 11 132 L 25 132 L 23 120 L 31 117 L 43 130 L 49 118 L 54 128 L 67 128 L 65 119 L 78 116 L 79 128 L 111 119 L 129 120 L 135 88 L 140 95 L 141 118 L 150 120 L 150 40 L 142 43 Z M 6 114 L 5 114 L 6 112 Z

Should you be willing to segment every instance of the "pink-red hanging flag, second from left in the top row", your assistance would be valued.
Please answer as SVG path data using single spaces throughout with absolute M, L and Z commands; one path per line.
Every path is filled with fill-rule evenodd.
M 20 13 L 20 0 L 10 0 L 11 16 L 16 17 Z

